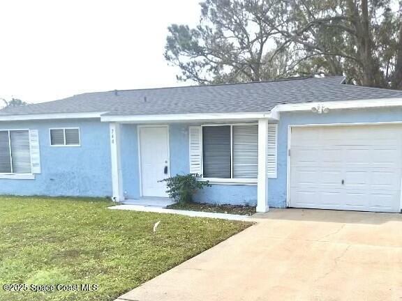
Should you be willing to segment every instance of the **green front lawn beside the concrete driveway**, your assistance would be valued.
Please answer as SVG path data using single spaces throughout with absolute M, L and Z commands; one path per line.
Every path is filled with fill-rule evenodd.
M 91 292 L 7 292 L 0 287 L 0 300 L 114 300 L 250 226 L 109 210 L 110 205 L 104 199 L 0 196 L 1 286 L 98 284 Z

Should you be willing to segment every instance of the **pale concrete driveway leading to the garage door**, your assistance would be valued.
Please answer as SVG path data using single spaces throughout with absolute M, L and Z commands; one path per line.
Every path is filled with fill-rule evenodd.
M 402 215 L 286 209 L 256 217 L 118 300 L 402 300 Z

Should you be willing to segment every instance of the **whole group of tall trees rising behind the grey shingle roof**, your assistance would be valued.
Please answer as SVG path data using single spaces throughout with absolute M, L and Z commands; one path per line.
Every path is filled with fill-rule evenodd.
M 402 88 L 402 1 L 206 0 L 195 29 L 173 24 L 165 58 L 200 84 L 346 75 Z M 278 72 L 278 68 L 281 72 Z

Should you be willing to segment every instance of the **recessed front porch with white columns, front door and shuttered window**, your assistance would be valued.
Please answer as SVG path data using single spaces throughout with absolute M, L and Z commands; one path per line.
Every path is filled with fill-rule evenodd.
M 195 201 L 257 205 L 258 212 L 267 212 L 268 178 L 276 173 L 277 137 L 276 126 L 273 127 L 276 120 L 269 114 L 244 115 L 232 114 L 230 118 L 209 115 L 199 119 L 187 116 L 186 119 L 177 117 L 172 120 L 155 117 L 140 120 L 140 117 L 133 116 L 109 118 L 114 201 L 161 208 L 169 203 L 165 183 L 161 183 L 163 178 L 198 173 L 204 175 L 202 179 L 209 180 L 212 187 L 200 191 Z M 255 130 L 244 130 L 248 125 Z M 233 130 L 237 126 L 236 131 Z M 213 140 L 214 135 L 210 139 L 214 144 L 210 147 L 212 151 L 215 146 L 218 148 L 214 157 L 211 158 L 211 149 L 205 151 L 208 144 L 203 149 L 205 134 L 211 132 L 205 130 L 207 127 L 228 132 L 230 147 L 227 146 L 226 157 L 221 151 L 222 136 L 216 136 L 220 139 L 218 142 Z M 234 144 L 237 132 L 241 132 L 239 137 L 249 145 Z M 251 132 L 249 136 L 248 132 Z M 241 153 L 243 149 L 248 153 Z M 209 157 L 205 157 L 206 153 Z M 238 162 L 240 160 L 243 161 Z M 228 176 L 220 177 L 224 169 L 228 170 Z M 211 176 L 214 174 L 218 176 Z

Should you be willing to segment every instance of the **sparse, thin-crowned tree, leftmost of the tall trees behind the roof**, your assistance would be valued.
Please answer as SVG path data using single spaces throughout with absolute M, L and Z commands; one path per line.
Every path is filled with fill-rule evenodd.
M 205 0 L 195 29 L 172 24 L 165 59 L 181 68 L 178 79 L 199 84 L 258 82 L 269 38 L 277 34 L 263 19 L 277 0 Z

